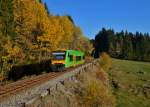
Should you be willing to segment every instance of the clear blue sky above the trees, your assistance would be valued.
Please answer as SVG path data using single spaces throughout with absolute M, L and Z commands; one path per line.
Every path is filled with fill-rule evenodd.
M 55 15 L 70 15 L 85 36 L 102 27 L 150 33 L 150 0 L 43 0 Z

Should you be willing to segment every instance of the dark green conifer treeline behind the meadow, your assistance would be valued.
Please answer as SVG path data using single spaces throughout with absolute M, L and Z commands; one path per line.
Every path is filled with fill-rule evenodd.
M 91 40 L 95 47 L 95 57 L 102 52 L 112 57 L 129 60 L 150 61 L 150 35 L 141 32 L 121 31 L 102 28 Z

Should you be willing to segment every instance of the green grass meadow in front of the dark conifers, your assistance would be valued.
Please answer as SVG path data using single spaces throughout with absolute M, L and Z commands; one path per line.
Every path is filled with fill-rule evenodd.
M 144 86 L 150 86 L 150 63 L 113 59 L 110 79 L 117 84 L 117 107 L 150 107 Z M 147 94 L 146 94 L 147 95 Z

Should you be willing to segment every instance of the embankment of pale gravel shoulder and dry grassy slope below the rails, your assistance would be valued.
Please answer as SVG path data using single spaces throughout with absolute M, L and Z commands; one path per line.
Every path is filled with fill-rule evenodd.
M 0 107 L 113 107 L 115 98 L 99 60 L 0 100 Z

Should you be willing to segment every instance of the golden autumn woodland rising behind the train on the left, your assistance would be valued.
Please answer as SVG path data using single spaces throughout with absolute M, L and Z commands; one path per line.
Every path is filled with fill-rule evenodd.
M 0 0 L 0 73 L 40 62 L 55 49 L 88 53 L 89 40 L 71 16 L 50 14 L 41 0 Z

